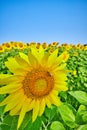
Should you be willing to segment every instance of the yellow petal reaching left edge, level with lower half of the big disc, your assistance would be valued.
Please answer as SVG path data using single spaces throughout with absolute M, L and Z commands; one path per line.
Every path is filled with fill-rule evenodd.
M 17 91 L 22 87 L 22 84 L 9 84 L 0 88 L 0 94 L 7 94 Z

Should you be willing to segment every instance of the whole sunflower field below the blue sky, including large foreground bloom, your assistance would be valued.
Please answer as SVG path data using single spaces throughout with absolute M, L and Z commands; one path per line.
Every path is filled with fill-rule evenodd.
M 87 45 L 0 45 L 0 130 L 87 130 Z

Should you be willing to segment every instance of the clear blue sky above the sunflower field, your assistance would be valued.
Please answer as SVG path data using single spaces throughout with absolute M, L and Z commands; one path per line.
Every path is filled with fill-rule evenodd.
M 0 43 L 87 43 L 87 0 L 0 0 Z

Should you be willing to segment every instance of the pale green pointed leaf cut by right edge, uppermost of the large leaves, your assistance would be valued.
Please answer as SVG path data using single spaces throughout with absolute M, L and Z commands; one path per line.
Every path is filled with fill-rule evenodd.
M 74 98 L 83 105 L 87 105 L 87 93 L 83 91 L 71 91 L 69 92 Z

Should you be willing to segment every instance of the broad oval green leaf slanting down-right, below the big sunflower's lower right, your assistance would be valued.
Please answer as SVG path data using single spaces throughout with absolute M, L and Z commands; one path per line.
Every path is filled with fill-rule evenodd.
M 58 107 L 58 111 L 62 117 L 62 120 L 65 122 L 65 124 L 71 128 L 74 128 L 76 126 L 75 124 L 75 115 L 67 105 L 62 104 Z

